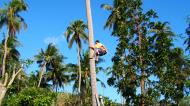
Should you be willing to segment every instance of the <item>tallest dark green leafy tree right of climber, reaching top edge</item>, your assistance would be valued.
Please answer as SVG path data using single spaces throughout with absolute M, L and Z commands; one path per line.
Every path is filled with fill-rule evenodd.
M 136 94 L 137 87 L 144 88 L 142 81 L 149 82 L 153 54 L 150 43 L 152 19 L 157 15 L 153 10 L 143 13 L 141 0 L 114 0 L 105 27 L 112 28 L 112 35 L 118 38 L 115 56 L 112 58 L 112 77 L 108 84 L 118 88 L 127 105 L 139 105 L 139 98 L 150 95 Z

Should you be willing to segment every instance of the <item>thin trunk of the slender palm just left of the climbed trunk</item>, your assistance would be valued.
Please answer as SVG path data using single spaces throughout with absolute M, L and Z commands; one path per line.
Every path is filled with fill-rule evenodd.
M 79 66 L 79 87 L 78 87 L 78 93 L 80 93 L 80 89 L 81 89 L 81 62 L 80 62 L 80 47 L 77 44 L 77 53 L 78 53 L 78 66 Z

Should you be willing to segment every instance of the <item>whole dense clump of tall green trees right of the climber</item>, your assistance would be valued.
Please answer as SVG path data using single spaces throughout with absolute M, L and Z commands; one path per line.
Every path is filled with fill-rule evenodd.
M 142 101 L 153 105 L 161 95 L 178 104 L 184 96 L 190 65 L 183 50 L 173 46 L 175 34 L 168 23 L 154 21 L 156 12 L 144 12 L 142 0 L 114 0 L 113 6 L 102 7 L 111 11 L 105 27 L 118 38 L 108 84 L 121 92 L 127 105 L 140 105 Z

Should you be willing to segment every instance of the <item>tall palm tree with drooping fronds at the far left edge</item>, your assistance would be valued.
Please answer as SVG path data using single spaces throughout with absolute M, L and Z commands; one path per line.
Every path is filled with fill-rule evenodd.
M 26 28 L 24 19 L 19 15 L 20 12 L 26 11 L 27 5 L 23 0 L 12 0 L 5 9 L 0 10 L 0 28 L 7 26 L 7 34 L 4 42 L 4 56 L 2 76 L 5 74 L 5 64 L 7 56 L 7 40 L 10 36 L 14 37 L 22 27 Z

